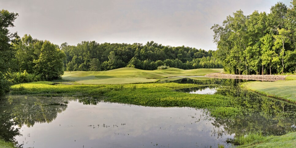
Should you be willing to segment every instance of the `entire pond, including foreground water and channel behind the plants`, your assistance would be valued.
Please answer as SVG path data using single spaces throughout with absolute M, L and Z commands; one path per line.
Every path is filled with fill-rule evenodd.
M 0 136 L 23 147 L 231 147 L 228 138 L 248 132 L 296 131 L 295 104 L 237 86 L 246 81 L 200 76 L 161 81 L 202 84 L 177 91 L 214 90 L 229 97 L 241 108 L 241 115 L 231 119 L 213 118 L 204 109 L 144 107 L 95 97 L 6 96 L 0 99 Z

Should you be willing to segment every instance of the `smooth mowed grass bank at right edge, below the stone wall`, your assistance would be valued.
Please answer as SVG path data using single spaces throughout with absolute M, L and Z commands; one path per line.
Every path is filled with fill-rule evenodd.
M 296 80 L 275 82 L 246 82 L 242 84 L 249 90 L 296 103 Z

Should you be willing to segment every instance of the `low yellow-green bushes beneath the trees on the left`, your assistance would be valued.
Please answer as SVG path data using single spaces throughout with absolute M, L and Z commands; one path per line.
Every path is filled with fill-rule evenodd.
M 19 83 L 28 83 L 28 82 L 36 82 L 36 81 L 44 81 L 44 78 L 41 75 L 29 74 L 25 70 L 23 73 L 11 73 L 9 75 L 9 82 L 14 84 Z

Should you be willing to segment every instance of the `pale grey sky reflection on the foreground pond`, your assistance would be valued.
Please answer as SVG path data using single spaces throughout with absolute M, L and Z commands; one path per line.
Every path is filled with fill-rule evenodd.
M 70 101 L 51 123 L 23 126 L 24 147 L 217 147 L 233 135 L 217 135 L 213 119 L 192 108 L 154 108 Z

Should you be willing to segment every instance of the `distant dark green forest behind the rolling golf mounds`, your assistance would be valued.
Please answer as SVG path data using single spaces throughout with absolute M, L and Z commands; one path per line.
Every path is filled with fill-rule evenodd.
M 61 50 L 66 53 L 64 66 L 67 71 L 104 71 L 122 67 L 156 70 L 161 65 L 180 69 L 222 68 L 212 57 L 214 51 L 162 46 L 153 41 L 145 45 L 83 41 L 77 46 L 63 43 Z

